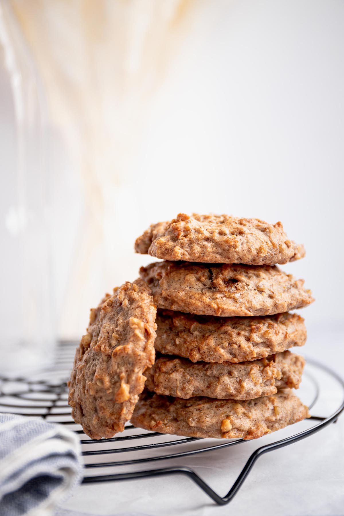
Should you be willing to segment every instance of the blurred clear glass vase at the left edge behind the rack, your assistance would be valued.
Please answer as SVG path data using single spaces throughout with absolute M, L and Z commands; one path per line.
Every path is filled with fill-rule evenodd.
M 24 38 L 0 2 L 0 374 L 23 374 L 54 356 L 45 99 Z

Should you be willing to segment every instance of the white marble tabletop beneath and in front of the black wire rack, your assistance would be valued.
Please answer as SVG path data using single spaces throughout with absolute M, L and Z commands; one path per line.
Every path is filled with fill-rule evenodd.
M 340 325 L 313 326 L 308 328 L 308 335 L 308 342 L 302 349 L 305 356 L 331 366 L 343 377 Z M 325 405 L 316 406 L 317 414 L 311 411 L 314 415 L 331 410 L 331 400 L 339 396 L 333 385 L 323 385 L 322 389 L 326 389 L 322 399 L 327 399 L 328 403 L 325 401 Z M 297 425 L 298 431 L 302 431 L 309 422 Z M 280 430 L 279 437 L 286 437 L 287 432 L 287 429 Z M 275 437 L 276 434 L 273 438 L 261 438 L 259 443 L 245 443 L 165 464 L 159 461 L 139 465 L 138 469 L 187 465 L 223 495 L 231 487 L 250 451 L 275 440 Z M 254 513 L 256 516 L 272 516 L 278 513 L 280 516 L 339 516 L 344 509 L 344 414 L 336 424 L 313 436 L 260 457 L 237 496 L 226 506 L 215 505 L 187 477 L 170 476 L 80 486 L 63 507 L 97 515 L 221 516 L 234 513 L 244 516 Z

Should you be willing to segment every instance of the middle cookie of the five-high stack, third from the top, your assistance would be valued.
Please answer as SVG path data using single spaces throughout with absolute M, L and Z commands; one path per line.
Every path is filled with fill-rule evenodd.
M 155 349 L 192 362 L 245 362 L 303 346 L 307 332 L 298 314 L 213 317 L 159 310 Z

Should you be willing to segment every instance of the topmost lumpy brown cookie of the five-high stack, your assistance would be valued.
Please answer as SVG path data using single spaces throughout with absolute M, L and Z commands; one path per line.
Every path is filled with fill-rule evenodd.
M 137 238 L 135 250 L 162 260 L 248 265 L 284 264 L 305 255 L 303 246 L 287 238 L 281 222 L 195 213 L 152 224 Z

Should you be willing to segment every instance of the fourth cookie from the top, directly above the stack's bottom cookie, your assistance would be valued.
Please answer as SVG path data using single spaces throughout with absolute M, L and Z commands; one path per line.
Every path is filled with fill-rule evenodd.
M 281 389 L 298 389 L 304 365 L 305 360 L 290 351 L 240 364 L 193 364 L 185 358 L 161 357 L 145 371 L 145 386 L 157 394 L 183 399 L 254 399 Z

